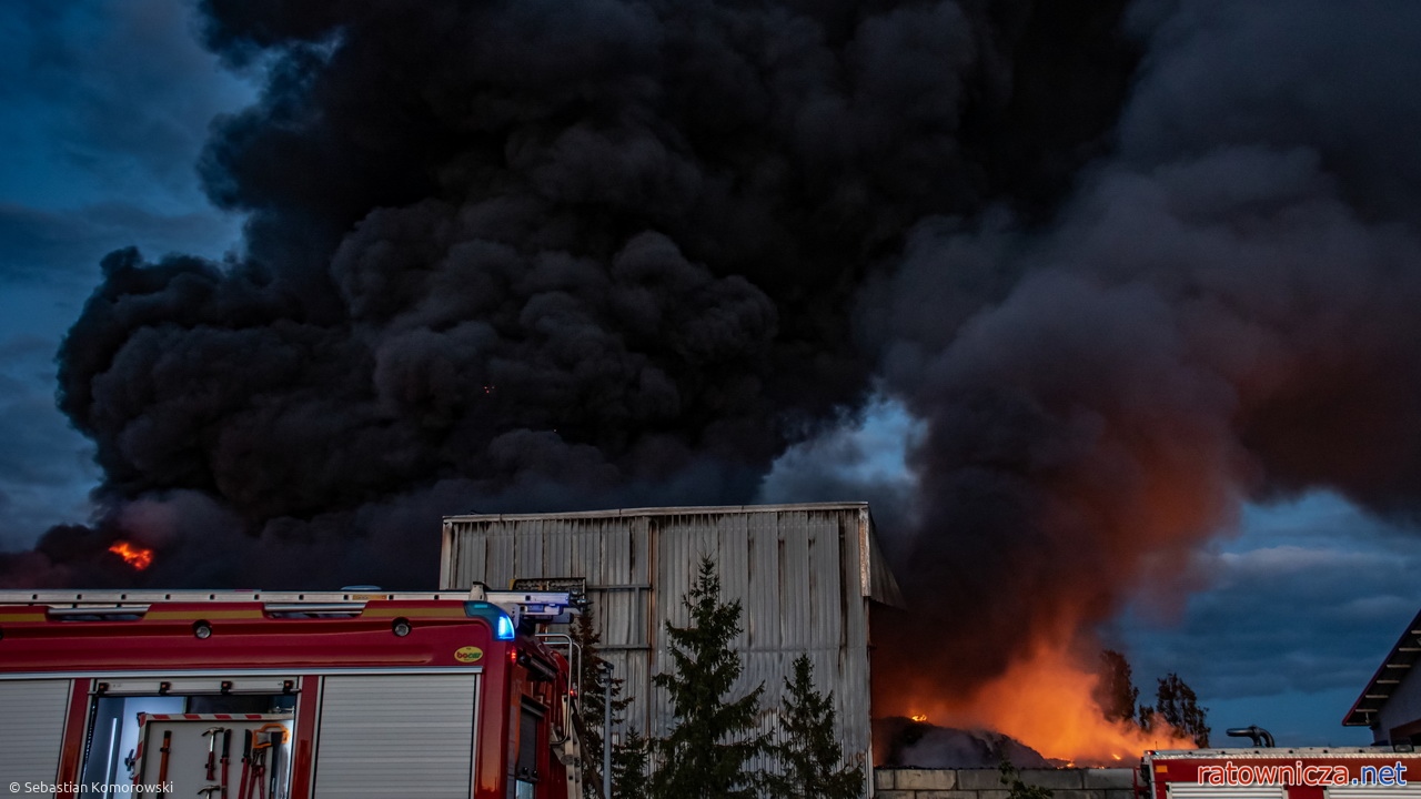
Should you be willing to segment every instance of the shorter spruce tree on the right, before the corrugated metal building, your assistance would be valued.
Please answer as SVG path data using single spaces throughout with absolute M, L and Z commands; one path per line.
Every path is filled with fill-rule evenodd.
M 809 655 L 794 660 L 794 678 L 784 681 L 789 695 L 780 708 L 784 739 L 772 748 L 782 773 L 764 783 L 776 799 L 858 799 L 864 793 L 864 766 L 844 765 L 844 748 L 834 732 L 830 697 L 814 690 L 814 664 Z

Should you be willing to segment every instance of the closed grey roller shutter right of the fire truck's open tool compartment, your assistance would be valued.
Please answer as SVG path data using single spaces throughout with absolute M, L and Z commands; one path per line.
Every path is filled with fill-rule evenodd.
M 325 677 L 314 799 L 469 799 L 477 680 Z

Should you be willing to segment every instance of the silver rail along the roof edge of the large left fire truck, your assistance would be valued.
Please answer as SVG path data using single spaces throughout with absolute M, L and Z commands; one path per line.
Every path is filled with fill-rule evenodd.
M 570 591 L 492 591 L 475 583 L 468 591 L 259 591 L 259 590 L 108 590 L 0 591 L 0 606 L 44 606 L 54 618 L 139 616 L 156 603 L 261 603 L 271 614 L 355 616 L 369 601 L 486 601 L 507 613 L 514 624 L 566 624 L 578 613 Z

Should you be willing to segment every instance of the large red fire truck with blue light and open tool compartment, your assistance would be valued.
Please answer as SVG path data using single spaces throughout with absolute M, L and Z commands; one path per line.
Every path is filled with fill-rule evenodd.
M 566 591 L 0 591 L 0 790 L 580 799 Z

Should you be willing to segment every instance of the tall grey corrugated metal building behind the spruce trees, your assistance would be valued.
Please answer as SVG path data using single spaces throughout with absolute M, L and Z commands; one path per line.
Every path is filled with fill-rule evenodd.
M 703 556 L 719 566 L 723 600 L 743 607 L 733 695 L 764 682 L 762 728 L 776 731 L 784 678 L 807 653 L 818 688 L 833 691 L 845 754 L 870 762 L 868 603 L 902 600 L 868 503 L 449 516 L 439 581 L 584 577 L 603 655 L 634 697 L 628 722 L 661 735 L 671 708 L 651 675 L 669 668 L 665 624 L 686 624 L 682 597 Z

